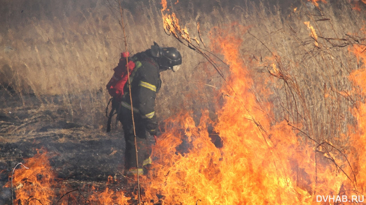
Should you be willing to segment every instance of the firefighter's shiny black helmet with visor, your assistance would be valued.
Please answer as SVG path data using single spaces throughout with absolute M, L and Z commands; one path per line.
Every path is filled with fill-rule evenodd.
M 175 47 L 161 48 L 154 42 L 154 46 L 151 46 L 151 52 L 154 57 L 158 58 L 159 66 L 163 70 L 172 69 L 176 71 L 178 69 L 173 69 L 173 66 L 182 64 L 182 55 Z

